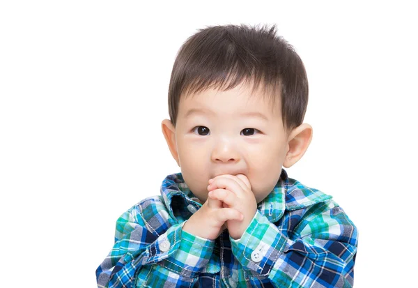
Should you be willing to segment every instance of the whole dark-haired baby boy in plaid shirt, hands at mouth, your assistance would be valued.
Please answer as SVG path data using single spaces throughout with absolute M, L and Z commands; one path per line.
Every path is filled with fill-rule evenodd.
M 283 168 L 312 127 L 275 29 L 209 26 L 180 48 L 162 132 L 181 173 L 118 219 L 98 287 L 353 287 L 357 228 Z

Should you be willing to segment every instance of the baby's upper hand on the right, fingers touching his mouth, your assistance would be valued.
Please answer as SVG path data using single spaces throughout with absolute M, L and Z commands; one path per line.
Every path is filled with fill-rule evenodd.
M 226 221 L 229 235 L 234 239 L 241 238 L 257 211 L 256 197 L 251 191 L 251 184 L 247 176 L 243 174 L 216 176 L 210 181 L 208 190 L 208 199 L 220 200 L 226 204 L 223 206 L 244 215 L 242 221 L 232 219 Z

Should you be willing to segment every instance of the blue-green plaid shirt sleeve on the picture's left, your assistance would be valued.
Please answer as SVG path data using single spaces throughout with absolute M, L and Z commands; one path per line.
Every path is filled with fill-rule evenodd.
M 155 199 L 116 222 L 114 247 L 96 270 L 98 287 L 189 287 L 209 262 L 215 241 L 182 230 Z

